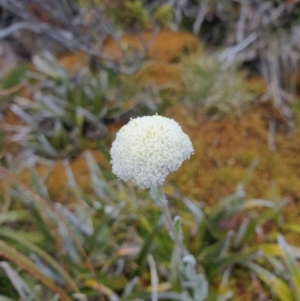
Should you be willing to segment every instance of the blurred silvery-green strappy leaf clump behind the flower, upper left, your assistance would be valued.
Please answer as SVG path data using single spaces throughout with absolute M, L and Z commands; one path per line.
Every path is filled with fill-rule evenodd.
M 116 120 L 139 108 L 156 110 L 151 89 L 143 89 L 133 76 L 110 70 L 77 74 L 67 71 L 52 55 L 36 56 L 36 71 L 28 71 L 32 99 L 15 97 L 10 109 L 25 123 L 6 126 L 12 141 L 47 157 L 64 156 L 81 148 L 84 139 L 101 139 L 106 120 Z

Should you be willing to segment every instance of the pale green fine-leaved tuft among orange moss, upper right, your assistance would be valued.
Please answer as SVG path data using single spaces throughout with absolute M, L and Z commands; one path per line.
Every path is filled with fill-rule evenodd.
M 184 101 L 216 114 L 237 114 L 254 99 L 243 86 L 244 73 L 237 64 L 225 68 L 204 52 L 183 61 Z

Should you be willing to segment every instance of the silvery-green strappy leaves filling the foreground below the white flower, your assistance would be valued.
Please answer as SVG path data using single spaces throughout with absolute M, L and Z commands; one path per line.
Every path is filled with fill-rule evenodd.
M 243 182 L 232 195 L 205 208 L 167 185 L 172 212 L 180 210 L 184 217 L 184 242 L 196 259 L 182 260 L 163 227 L 161 210 L 147 191 L 116 180 L 89 153 L 84 157 L 93 192 L 78 186 L 65 162 L 71 197 L 67 205 L 51 200 L 34 171 L 29 188 L 0 168 L 1 176 L 12 183 L 4 192 L 11 198 L 10 206 L 0 206 L 0 255 L 9 262 L 9 268 L 6 264 L 2 268 L 21 267 L 19 280 L 34 292 L 35 300 L 45 294 L 52 300 L 57 292 L 66 301 L 68 296 L 93 300 L 99 295 L 97 287 L 109 300 L 149 300 L 149 254 L 162 284 L 160 300 L 229 300 L 233 296 L 230 279 L 236 270 L 249 279 L 255 275 L 270 298 L 299 299 L 300 250 L 280 235 L 278 241 L 268 235 L 264 241 L 256 240 L 256 229 L 270 220 L 276 223 L 284 201 L 247 200 Z M 226 222 L 239 215 L 247 223 L 226 229 Z M 194 268 L 200 273 L 192 273 Z M 17 293 L 10 282 L 0 270 L 0 295 L 15 300 Z

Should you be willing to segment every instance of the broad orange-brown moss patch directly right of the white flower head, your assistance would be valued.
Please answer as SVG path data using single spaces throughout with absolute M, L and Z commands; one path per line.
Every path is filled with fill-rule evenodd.
M 267 143 L 268 118 L 274 116 L 268 108 L 217 121 L 198 115 L 195 124 L 188 121 L 187 114 L 180 106 L 167 113 L 183 126 L 194 144 L 195 155 L 170 176 L 189 196 L 216 203 L 234 190 L 252 160 L 258 158 L 259 165 L 247 187 L 249 197 L 269 198 L 271 183 L 275 182 L 281 196 L 300 199 L 300 130 L 276 134 L 277 151 L 272 152 Z

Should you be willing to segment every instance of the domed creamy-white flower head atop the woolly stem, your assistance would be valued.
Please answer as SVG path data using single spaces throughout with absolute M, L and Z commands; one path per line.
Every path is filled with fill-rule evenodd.
M 190 138 L 173 119 L 158 115 L 138 117 L 117 133 L 110 151 L 112 171 L 142 188 L 158 186 L 193 151 Z

